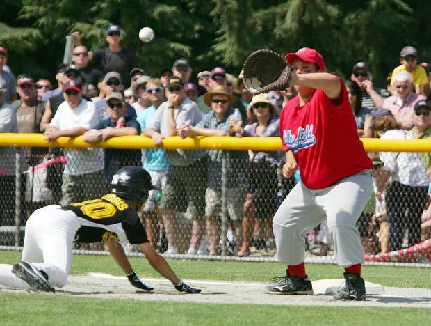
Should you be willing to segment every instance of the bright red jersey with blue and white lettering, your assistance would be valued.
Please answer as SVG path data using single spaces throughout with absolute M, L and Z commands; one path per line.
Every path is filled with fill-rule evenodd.
M 303 107 L 296 96 L 280 114 L 283 148 L 295 154 L 301 181 L 309 189 L 329 187 L 373 166 L 357 135 L 341 79 L 340 83 L 338 103 L 318 89 Z

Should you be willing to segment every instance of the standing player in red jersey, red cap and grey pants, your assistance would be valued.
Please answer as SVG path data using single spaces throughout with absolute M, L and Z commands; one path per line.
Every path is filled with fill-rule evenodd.
M 300 169 L 301 181 L 275 213 L 276 257 L 287 265 L 271 294 L 313 294 L 304 265 L 304 235 L 327 220 L 345 286 L 337 300 L 365 300 L 361 278 L 364 249 L 356 222 L 373 192 L 371 160 L 357 136 L 355 117 L 343 81 L 325 71 L 323 56 L 303 47 L 286 55 L 298 95 L 280 115 L 286 151 L 283 176 Z

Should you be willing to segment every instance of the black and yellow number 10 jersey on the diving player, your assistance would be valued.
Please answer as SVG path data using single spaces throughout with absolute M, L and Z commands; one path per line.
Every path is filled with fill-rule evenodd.
M 88 240 L 94 240 L 94 238 L 102 235 L 100 228 L 103 228 L 118 235 L 124 233 L 131 244 L 148 242 L 145 228 L 140 223 L 133 205 L 131 205 L 130 201 L 122 199 L 116 194 L 110 193 L 99 199 L 72 203 L 71 205 L 63 206 L 62 209 L 72 210 L 76 217 L 90 222 L 81 225 L 81 227 L 90 227 L 90 229 L 85 230 L 86 233 L 90 233 L 86 236 Z M 91 230 L 91 228 L 95 229 Z M 92 236 L 92 232 L 95 232 L 95 237 Z M 81 242 L 86 241 L 81 239 Z

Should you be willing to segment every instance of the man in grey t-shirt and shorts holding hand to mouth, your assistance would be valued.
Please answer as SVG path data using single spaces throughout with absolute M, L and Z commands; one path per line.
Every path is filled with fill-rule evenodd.
M 152 137 L 158 147 L 163 146 L 164 137 L 176 136 L 183 125 L 197 125 L 202 119 L 196 104 L 186 97 L 183 81 L 179 77 L 170 77 L 166 94 L 168 100 L 158 107 L 143 130 L 143 136 Z M 158 209 L 168 238 L 167 254 L 178 254 L 181 238 L 175 212 L 186 212 L 188 209 L 193 218 L 191 241 L 196 237 L 200 241 L 202 237 L 200 221 L 205 214 L 208 157 L 205 150 L 166 150 L 165 154 L 170 167 Z

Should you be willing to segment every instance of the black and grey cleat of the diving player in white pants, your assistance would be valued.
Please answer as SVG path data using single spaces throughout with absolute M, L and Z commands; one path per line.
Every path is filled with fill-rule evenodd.
M 29 284 L 31 290 L 38 290 L 44 292 L 55 293 L 56 290 L 48 283 L 48 277 L 46 273 L 38 270 L 31 263 L 26 261 L 20 261 L 19 263 L 13 264 L 12 272 L 19 279 L 22 279 Z

